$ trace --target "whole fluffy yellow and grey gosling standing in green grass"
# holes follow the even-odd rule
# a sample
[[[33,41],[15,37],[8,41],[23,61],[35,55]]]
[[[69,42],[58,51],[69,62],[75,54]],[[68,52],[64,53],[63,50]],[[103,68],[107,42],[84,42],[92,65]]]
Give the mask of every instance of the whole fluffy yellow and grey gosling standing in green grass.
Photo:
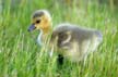
[[[32,15],[32,26],[28,31],[40,29],[38,43],[43,46],[51,34],[50,46],[58,49],[62,57],[79,62],[95,51],[102,42],[102,34],[95,29],[81,28],[72,24],[59,24],[51,29],[51,17],[46,10],[37,10]],[[59,55],[60,56],[60,55]]]

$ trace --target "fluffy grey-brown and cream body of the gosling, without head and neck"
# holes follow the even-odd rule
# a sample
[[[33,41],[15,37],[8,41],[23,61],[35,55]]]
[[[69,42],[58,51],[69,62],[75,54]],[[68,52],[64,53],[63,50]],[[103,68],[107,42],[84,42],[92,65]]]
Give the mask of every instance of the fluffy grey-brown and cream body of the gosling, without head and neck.
[[[72,24],[60,24],[54,29],[51,40],[57,41],[55,47],[58,48],[60,54],[72,62],[79,62],[95,51],[102,38],[102,33],[98,30]]]

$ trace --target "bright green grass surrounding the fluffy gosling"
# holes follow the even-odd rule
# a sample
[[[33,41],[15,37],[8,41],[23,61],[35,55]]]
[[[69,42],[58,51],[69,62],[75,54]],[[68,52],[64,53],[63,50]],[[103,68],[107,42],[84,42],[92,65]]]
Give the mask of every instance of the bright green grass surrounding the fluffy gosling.
[[[66,61],[57,67],[57,55],[48,56],[48,49],[35,43],[38,31],[28,33],[31,14],[47,9],[54,26],[70,22],[102,30],[103,43],[83,63]],[[88,3],[87,8],[64,5],[48,0],[21,0],[20,4],[4,3],[0,14],[0,77],[117,77],[118,76],[118,14],[107,5]]]

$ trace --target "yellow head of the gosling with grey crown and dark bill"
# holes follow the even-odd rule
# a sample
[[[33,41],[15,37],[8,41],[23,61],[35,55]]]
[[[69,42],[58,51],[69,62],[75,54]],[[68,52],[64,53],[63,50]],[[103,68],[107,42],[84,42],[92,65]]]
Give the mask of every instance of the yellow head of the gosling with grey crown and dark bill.
[[[33,13],[28,31],[34,29],[43,30],[44,34],[48,33],[51,27],[51,17],[47,10],[37,10]]]

